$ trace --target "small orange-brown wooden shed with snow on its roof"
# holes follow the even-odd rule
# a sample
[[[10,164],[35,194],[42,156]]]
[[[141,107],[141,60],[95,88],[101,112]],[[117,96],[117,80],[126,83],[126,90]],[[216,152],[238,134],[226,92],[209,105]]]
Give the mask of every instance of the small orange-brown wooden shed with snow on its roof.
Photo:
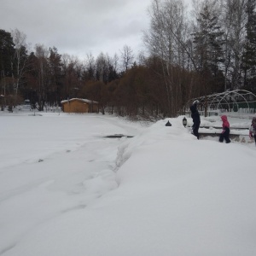
[[[62,111],[65,113],[97,113],[98,102],[73,98],[70,100],[62,101]]]

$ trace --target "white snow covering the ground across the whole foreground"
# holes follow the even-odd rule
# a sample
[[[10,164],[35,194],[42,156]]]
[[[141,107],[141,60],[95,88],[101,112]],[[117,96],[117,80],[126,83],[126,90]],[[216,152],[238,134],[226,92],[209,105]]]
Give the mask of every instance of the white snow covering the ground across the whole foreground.
[[[148,125],[94,113],[0,119],[0,255],[256,255],[249,139],[197,140],[183,116]],[[106,137],[114,134],[134,137]]]

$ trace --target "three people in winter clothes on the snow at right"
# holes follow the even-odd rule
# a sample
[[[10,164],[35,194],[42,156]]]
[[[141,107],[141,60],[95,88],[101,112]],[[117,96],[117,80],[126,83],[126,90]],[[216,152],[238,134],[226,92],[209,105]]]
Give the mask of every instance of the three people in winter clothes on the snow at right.
[[[196,100],[189,108],[191,111],[191,118],[193,119],[192,133],[195,135],[195,137],[197,137],[197,139],[199,139],[198,130],[201,124],[200,113],[197,110],[198,103],[199,101]],[[226,143],[230,143],[230,123],[226,115],[222,115],[220,118],[222,119],[222,132],[218,138],[218,141],[223,143],[225,140]],[[254,117],[252,120],[252,125],[249,130],[249,137],[251,139],[254,138],[254,142],[256,144],[256,117]]]

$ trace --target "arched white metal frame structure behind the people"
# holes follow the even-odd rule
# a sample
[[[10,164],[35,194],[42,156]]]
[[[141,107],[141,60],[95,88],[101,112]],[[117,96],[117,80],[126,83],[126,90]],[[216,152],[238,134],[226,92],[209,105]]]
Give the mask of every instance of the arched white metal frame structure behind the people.
[[[200,102],[201,108],[207,111],[238,111],[240,108],[253,109],[256,112],[256,95],[248,90],[228,90],[222,93],[215,93],[209,96],[196,98]],[[194,102],[192,99],[189,103]],[[201,109],[202,110],[202,109]]]

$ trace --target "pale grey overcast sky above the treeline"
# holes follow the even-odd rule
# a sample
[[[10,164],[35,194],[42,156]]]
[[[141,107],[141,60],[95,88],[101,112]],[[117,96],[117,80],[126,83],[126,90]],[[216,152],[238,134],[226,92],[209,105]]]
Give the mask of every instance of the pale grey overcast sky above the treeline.
[[[26,43],[55,46],[84,59],[119,55],[124,45],[143,49],[152,0],[0,0],[0,29],[17,28]]]

